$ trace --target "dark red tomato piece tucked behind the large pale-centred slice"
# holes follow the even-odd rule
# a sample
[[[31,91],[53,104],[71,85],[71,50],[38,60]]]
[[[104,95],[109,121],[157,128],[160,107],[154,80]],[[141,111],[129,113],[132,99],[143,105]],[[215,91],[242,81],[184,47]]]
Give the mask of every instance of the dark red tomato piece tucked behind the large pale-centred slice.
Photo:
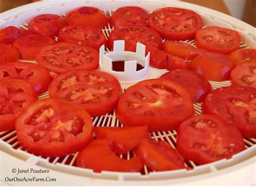
[[[183,86],[193,103],[203,102],[209,92],[211,92],[211,84],[202,75],[187,69],[176,69],[169,71],[160,76],[166,80],[176,82]]]

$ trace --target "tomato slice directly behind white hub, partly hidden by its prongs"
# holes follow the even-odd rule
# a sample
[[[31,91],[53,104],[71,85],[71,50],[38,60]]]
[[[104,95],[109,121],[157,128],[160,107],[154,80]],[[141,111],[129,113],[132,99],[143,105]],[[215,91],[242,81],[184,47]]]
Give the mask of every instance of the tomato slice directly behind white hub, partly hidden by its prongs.
[[[160,35],[152,28],[145,26],[123,26],[115,28],[107,40],[107,44],[110,49],[113,50],[114,40],[125,41],[125,51],[136,52],[137,42],[144,45],[152,45],[158,49],[161,49]]]

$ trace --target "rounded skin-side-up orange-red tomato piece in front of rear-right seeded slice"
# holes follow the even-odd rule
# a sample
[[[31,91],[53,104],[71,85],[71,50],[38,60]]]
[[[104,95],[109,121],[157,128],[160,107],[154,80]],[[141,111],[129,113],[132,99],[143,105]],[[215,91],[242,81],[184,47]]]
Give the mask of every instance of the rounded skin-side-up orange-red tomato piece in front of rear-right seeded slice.
[[[234,68],[233,62],[227,55],[205,52],[197,55],[190,63],[190,69],[203,75],[209,81],[230,80]]]

